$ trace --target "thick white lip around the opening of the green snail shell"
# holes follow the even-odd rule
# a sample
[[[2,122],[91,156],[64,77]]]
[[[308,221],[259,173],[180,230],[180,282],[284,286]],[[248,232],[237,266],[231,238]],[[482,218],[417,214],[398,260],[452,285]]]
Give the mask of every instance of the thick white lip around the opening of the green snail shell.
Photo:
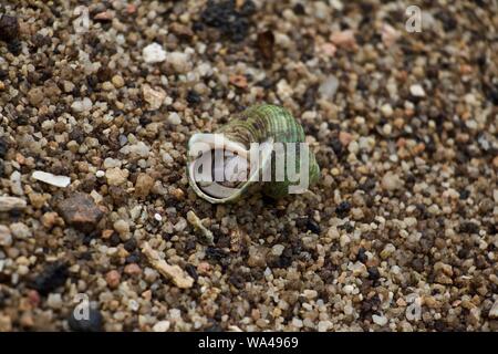
[[[191,153],[190,148],[195,145],[196,152]],[[204,146],[203,146],[204,145]],[[238,196],[242,194],[247,187],[260,178],[260,170],[263,170],[268,167],[268,164],[271,163],[271,153],[273,150],[273,139],[262,143],[263,145],[261,153],[261,166],[256,171],[251,170],[251,175],[248,180],[245,181],[239,188],[230,188],[218,184],[217,181],[211,181],[207,186],[199,187],[199,183],[195,178],[195,167],[196,162],[198,159],[198,155],[200,153],[205,153],[208,150],[212,150],[216,148],[225,149],[229,152],[237,153],[238,156],[245,157],[249,159],[250,152],[246,149],[246,147],[237,142],[230,140],[225,137],[224,134],[204,134],[198,133],[194,134],[188,142],[188,164],[187,164],[187,173],[188,180],[195,192],[201,197],[203,199],[211,202],[211,204],[224,204],[231,200],[235,200]],[[197,153],[197,154],[195,154]],[[197,157],[195,156],[197,155]]]

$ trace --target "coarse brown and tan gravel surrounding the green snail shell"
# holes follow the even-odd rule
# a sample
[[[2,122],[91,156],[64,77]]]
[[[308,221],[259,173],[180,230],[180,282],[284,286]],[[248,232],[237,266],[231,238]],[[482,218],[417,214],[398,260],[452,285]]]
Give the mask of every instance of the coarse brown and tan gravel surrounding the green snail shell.
[[[498,331],[495,2],[80,4],[0,6],[0,331]],[[319,184],[197,198],[261,102]]]

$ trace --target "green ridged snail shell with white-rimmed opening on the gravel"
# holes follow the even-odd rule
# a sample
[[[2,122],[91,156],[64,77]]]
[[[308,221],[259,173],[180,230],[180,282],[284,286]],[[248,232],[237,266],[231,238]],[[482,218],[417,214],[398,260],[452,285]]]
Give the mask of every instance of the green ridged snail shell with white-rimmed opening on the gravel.
[[[251,158],[253,156],[251,155],[252,143],[259,144],[257,165],[251,165],[258,160],[258,158]],[[302,144],[297,144],[298,147],[295,147],[295,144],[288,143]],[[278,146],[283,149],[277,150]],[[304,153],[300,147],[305,147]],[[205,156],[208,156],[208,159],[211,156],[221,156],[224,157],[222,164],[206,160]],[[207,171],[210,179],[199,178],[203,174],[203,167],[200,167],[203,164],[210,168]],[[256,189],[260,189],[272,198],[299,192],[291,191],[292,186],[299,184],[295,178],[292,178],[291,181],[287,174],[283,178],[274,178],[278,164],[284,164],[287,171],[291,168],[297,174],[301,173],[302,166],[308,167],[308,177],[305,177],[308,185],[314,184],[320,175],[314,155],[304,144],[304,132],[301,125],[284,108],[270,104],[249,107],[215,134],[194,134],[188,142],[189,184],[199,197],[211,204],[236,201]],[[293,164],[293,166],[288,166],[288,164]],[[234,166],[237,166],[237,170]],[[253,168],[255,166],[256,168]],[[307,171],[303,170],[303,173]],[[225,176],[224,183],[212,178],[217,174]],[[271,177],[261,178],[262,176]],[[300,174],[299,176],[299,178],[304,178],[302,177],[304,175]]]

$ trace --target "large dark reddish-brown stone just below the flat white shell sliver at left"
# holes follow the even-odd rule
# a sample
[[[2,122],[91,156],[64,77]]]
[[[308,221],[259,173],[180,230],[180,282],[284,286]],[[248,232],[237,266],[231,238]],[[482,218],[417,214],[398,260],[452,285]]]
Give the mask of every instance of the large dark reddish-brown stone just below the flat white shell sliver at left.
[[[94,230],[104,216],[92,197],[81,192],[59,202],[58,209],[65,222],[85,232]]]

